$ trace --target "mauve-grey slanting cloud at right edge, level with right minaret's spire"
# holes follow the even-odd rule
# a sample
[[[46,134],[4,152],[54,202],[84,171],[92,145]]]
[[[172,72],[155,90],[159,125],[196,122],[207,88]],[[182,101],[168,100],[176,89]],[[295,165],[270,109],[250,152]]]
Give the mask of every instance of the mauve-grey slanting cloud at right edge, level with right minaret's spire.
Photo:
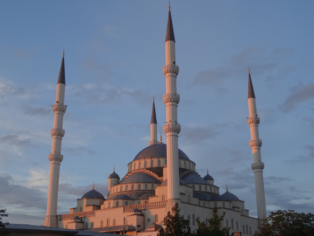
[[[284,112],[288,112],[290,110],[293,110],[300,103],[313,98],[314,98],[314,82],[293,88],[292,93],[286,98],[286,100],[280,106],[280,108]]]

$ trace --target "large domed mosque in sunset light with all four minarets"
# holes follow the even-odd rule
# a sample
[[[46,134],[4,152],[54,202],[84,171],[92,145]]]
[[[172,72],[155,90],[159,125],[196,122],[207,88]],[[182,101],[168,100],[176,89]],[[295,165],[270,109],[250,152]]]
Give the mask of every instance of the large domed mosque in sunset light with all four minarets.
[[[50,181],[48,190],[47,216],[44,226],[88,230],[127,235],[154,236],[163,227],[163,219],[175,203],[181,207],[181,215],[190,222],[192,232],[198,226],[196,220],[205,222],[218,209],[218,214],[225,212],[222,227],[230,227],[230,233],[240,232],[242,235],[253,235],[258,225],[266,216],[265,193],[263,183],[264,163],[261,161],[262,140],[259,139],[255,94],[252,80],[248,77],[248,105],[253,163],[251,164],[255,178],[257,215],[250,217],[244,201],[230,193],[228,188],[221,191],[215,185],[214,178],[209,175],[201,177],[196,172],[196,163],[178,148],[178,137],[181,126],[177,122],[177,108],[180,95],[176,91],[176,78],[179,67],[176,65],[175,36],[173,31],[170,4],[165,39],[165,59],[163,73],[166,80],[166,93],[163,101],[166,108],[166,123],[163,126],[166,142],[163,143],[161,133],[157,136],[157,119],[154,106],[150,121],[149,146],[141,150],[127,164],[127,173],[120,178],[115,170],[108,177],[108,193],[98,192],[93,184],[92,189],[77,199],[76,207],[70,213],[57,215],[57,197],[59,185],[61,142],[64,136],[63,115],[65,69],[64,53],[57,82],[56,104],[54,112],[54,128],[51,129],[52,149],[49,154]],[[224,193],[222,193],[224,192]],[[222,194],[221,194],[222,193]],[[105,197],[105,196],[106,197]]]

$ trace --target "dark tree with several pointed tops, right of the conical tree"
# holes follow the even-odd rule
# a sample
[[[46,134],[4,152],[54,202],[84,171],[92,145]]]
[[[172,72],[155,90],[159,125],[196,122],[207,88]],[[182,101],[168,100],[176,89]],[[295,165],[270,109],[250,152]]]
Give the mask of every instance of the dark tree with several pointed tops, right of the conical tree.
[[[198,229],[196,230],[197,236],[229,236],[230,227],[221,228],[221,222],[224,220],[226,212],[224,211],[222,216],[218,216],[218,210],[215,207],[213,209],[213,217],[208,220],[208,226],[205,222],[196,220]],[[231,234],[234,235],[234,232]]]

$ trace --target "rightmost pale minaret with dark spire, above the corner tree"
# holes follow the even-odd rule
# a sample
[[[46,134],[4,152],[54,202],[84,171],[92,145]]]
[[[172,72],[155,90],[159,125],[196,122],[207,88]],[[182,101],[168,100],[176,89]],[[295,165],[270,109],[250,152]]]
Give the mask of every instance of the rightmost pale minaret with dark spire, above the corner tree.
[[[262,140],[259,139],[258,134],[259,117],[257,116],[256,111],[255,94],[250,75],[250,68],[248,68],[248,70],[249,70],[249,87],[247,100],[249,104],[249,117],[247,118],[247,123],[250,125],[251,129],[251,140],[249,141],[253,154],[253,163],[251,164],[251,168],[254,172],[255,179],[257,217],[259,219],[259,222],[262,223],[263,218],[266,217],[266,203],[263,179],[264,163],[262,162],[261,157]]]

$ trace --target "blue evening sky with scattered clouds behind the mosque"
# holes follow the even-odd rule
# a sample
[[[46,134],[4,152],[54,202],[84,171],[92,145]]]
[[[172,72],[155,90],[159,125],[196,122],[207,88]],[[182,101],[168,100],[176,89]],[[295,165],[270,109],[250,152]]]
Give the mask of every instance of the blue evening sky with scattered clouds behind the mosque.
[[[267,212],[314,213],[313,1],[171,0],[179,148],[220,193],[257,216],[247,86],[260,117]],[[62,51],[66,94],[57,214],[150,140],[152,98],[165,123],[168,1],[2,1],[0,209],[5,221],[46,216],[50,129]],[[165,134],[162,132],[163,142]]]

